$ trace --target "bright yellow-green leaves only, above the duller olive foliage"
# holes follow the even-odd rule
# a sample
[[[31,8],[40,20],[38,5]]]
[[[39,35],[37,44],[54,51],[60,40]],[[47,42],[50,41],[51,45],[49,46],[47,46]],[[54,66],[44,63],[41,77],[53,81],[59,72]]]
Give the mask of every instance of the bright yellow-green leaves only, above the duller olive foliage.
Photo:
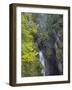
[[[22,15],[22,60],[35,60],[33,34],[37,32],[31,14]]]

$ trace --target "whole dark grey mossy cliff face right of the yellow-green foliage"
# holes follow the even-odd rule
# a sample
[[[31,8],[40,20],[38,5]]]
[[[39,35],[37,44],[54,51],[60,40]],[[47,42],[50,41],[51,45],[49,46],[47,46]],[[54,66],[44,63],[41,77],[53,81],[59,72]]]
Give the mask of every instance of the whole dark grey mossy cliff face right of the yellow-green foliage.
[[[43,75],[63,74],[62,19],[62,15],[39,14],[35,17],[35,23],[38,25],[35,41],[43,54]]]

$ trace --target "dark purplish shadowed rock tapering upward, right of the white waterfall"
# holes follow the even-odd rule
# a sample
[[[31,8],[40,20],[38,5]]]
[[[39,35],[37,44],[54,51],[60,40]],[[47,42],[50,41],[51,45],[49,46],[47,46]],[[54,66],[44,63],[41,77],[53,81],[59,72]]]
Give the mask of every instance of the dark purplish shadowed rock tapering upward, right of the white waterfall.
[[[59,69],[58,69],[58,63],[56,58],[56,52],[55,49],[53,49],[53,53],[50,57],[50,60],[48,60],[48,67],[49,67],[49,75],[59,75]],[[48,75],[48,73],[46,72]]]

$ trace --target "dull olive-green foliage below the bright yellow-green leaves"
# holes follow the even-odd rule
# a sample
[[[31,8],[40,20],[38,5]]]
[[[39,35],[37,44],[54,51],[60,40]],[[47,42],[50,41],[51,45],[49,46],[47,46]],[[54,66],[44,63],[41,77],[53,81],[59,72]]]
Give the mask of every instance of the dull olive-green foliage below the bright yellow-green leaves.
[[[22,77],[27,76],[41,76],[42,66],[39,60],[22,61]]]

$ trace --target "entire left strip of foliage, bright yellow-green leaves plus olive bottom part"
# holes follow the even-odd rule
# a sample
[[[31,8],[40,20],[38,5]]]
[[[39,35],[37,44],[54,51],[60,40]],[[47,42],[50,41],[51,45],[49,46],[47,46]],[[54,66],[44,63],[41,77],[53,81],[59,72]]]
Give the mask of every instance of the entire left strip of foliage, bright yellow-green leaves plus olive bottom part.
[[[41,74],[41,65],[38,57],[37,45],[34,43],[34,34],[37,32],[32,14],[22,14],[21,17],[21,59],[22,76],[35,76]]]

